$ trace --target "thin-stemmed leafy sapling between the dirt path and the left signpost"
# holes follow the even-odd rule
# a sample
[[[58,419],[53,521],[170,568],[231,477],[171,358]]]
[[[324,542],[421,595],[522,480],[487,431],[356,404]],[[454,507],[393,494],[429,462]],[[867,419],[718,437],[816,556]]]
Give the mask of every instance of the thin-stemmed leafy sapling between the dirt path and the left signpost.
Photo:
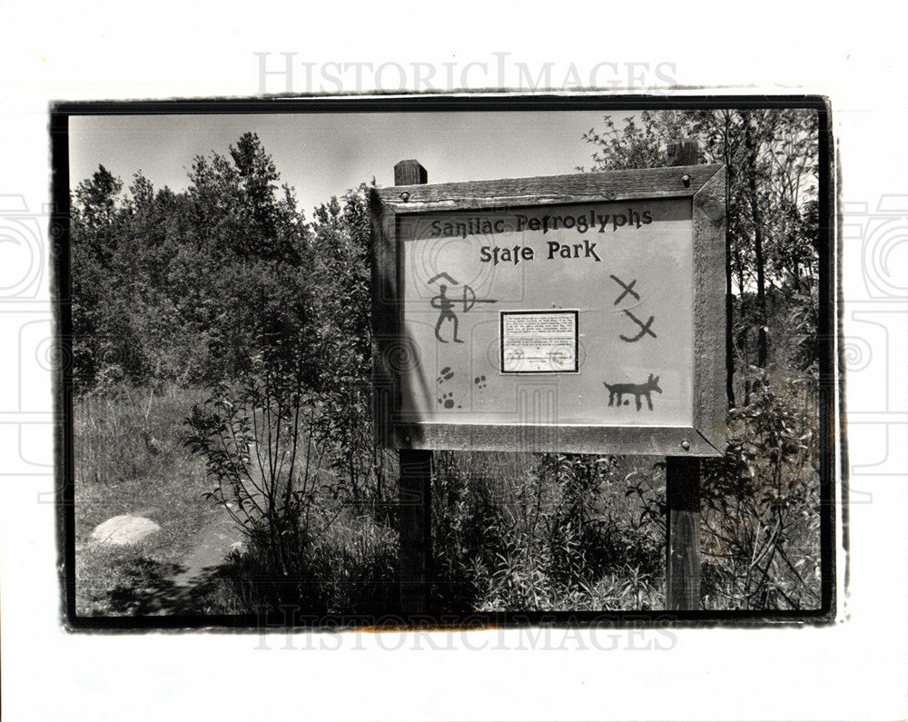
[[[201,454],[222,504],[287,578],[306,566],[317,530],[313,506],[323,453],[315,433],[321,408],[311,391],[311,298],[288,266],[266,264],[246,291],[259,295],[256,351],[235,382],[218,381],[187,420],[187,445]],[[313,516],[314,514],[314,516]],[[291,593],[299,594],[299,589]]]

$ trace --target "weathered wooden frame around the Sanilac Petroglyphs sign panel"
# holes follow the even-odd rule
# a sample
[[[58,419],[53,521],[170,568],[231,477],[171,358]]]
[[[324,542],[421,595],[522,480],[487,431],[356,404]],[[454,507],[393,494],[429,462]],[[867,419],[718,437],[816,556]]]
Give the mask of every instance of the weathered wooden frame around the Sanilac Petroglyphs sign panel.
[[[516,211],[568,203],[690,199],[694,249],[694,361],[689,426],[558,425],[401,421],[400,381],[418,363],[403,328],[400,220],[420,213]],[[372,329],[374,419],[380,445],[404,450],[562,451],[719,456],[725,447],[725,166],[686,165],[608,173],[373,189]]]

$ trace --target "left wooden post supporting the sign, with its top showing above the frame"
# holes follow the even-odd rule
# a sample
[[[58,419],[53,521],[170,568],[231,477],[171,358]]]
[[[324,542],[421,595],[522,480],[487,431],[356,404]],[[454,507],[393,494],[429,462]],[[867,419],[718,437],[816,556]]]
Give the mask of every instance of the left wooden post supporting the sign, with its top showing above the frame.
[[[395,185],[421,185],[429,174],[418,161],[394,166]],[[400,449],[399,533],[400,611],[404,615],[429,610],[432,566],[432,452]]]

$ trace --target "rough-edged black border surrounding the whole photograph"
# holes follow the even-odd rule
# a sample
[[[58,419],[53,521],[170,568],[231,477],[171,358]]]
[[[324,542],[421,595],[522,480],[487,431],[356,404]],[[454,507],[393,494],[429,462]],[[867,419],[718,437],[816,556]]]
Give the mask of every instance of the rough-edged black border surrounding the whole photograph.
[[[262,609],[261,613],[242,616],[173,615],[159,617],[83,617],[75,609],[75,541],[74,541],[74,429],[72,316],[70,297],[70,179],[69,118],[82,115],[144,114],[312,114],[312,113],[393,113],[393,112],[458,112],[458,111],[601,111],[622,110],[696,110],[734,108],[741,110],[805,109],[818,114],[818,203],[819,203],[819,442],[821,499],[821,604],[814,610],[787,611],[615,611],[615,612],[539,612],[539,613],[473,613],[465,617],[382,618],[330,616],[288,617],[286,609]],[[59,503],[58,549],[62,588],[61,613],[64,626],[71,630],[195,629],[218,631],[232,629],[249,633],[268,630],[310,629],[338,631],[364,628],[374,630],[407,628],[510,628],[510,627],[702,627],[716,625],[766,625],[774,623],[831,624],[835,619],[836,579],[836,488],[847,498],[844,463],[837,479],[837,447],[846,453],[844,436],[844,369],[841,333],[841,307],[837,306],[840,289],[841,253],[836,252],[839,239],[835,233],[836,206],[834,138],[832,112],[827,99],[818,95],[755,94],[699,96],[642,96],[607,94],[458,94],[458,95],[373,95],[358,97],[305,96],[300,98],[266,98],[261,100],[185,100],[185,101],[118,101],[60,102],[50,109],[50,146],[52,158],[52,193],[54,199],[50,223],[53,262],[53,304],[55,312],[56,351],[64,360],[54,375],[54,425],[56,439],[56,476]],[[843,509],[844,513],[844,509]],[[847,539],[842,535],[847,551]]]

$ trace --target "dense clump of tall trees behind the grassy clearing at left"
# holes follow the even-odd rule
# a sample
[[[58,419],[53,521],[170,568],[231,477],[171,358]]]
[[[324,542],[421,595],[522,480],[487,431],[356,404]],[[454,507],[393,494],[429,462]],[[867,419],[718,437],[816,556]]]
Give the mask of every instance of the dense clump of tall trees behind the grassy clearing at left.
[[[77,388],[212,381],[250,362],[271,280],[300,291],[308,230],[255,134],[200,156],[183,193],[101,166],[73,197]],[[303,295],[301,293],[301,295]]]

